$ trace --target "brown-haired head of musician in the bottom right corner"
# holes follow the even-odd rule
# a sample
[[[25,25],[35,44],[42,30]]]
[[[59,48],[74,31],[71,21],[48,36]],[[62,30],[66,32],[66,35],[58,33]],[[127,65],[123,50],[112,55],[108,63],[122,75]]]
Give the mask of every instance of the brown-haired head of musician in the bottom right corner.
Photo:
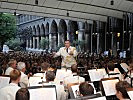
[[[126,81],[116,83],[116,96],[119,100],[130,100],[126,88],[130,88],[130,84]]]

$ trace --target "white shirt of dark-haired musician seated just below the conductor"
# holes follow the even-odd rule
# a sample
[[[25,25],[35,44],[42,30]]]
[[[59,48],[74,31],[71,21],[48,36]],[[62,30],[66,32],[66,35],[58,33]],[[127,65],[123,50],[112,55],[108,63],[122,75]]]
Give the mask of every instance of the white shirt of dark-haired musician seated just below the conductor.
[[[85,82],[85,78],[80,77],[75,73],[73,73],[72,75],[70,75],[64,79],[65,86],[67,86],[70,83],[81,83],[81,82]]]

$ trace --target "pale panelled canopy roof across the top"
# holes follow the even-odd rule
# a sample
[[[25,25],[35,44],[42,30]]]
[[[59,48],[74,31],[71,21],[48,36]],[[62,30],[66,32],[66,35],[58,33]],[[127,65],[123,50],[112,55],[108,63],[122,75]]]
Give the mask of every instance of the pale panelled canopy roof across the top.
[[[122,18],[133,13],[133,0],[0,0],[0,12],[30,14],[77,21],[107,21],[107,16]],[[69,13],[67,15],[67,13]]]

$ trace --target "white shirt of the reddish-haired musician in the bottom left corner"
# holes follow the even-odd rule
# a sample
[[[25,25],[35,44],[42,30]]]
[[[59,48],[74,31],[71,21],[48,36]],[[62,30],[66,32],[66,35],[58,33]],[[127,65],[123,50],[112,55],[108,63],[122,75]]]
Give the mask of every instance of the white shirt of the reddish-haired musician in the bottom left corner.
[[[8,86],[0,89],[0,100],[15,100],[16,92],[20,87],[15,83],[10,83]]]

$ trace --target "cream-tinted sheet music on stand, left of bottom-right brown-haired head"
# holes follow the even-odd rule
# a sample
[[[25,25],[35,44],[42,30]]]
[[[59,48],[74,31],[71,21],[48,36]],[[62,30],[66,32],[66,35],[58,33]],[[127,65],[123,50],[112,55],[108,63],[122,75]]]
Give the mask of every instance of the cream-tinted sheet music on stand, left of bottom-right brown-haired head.
[[[118,79],[102,81],[104,92],[106,96],[116,94],[115,84],[119,82]]]

